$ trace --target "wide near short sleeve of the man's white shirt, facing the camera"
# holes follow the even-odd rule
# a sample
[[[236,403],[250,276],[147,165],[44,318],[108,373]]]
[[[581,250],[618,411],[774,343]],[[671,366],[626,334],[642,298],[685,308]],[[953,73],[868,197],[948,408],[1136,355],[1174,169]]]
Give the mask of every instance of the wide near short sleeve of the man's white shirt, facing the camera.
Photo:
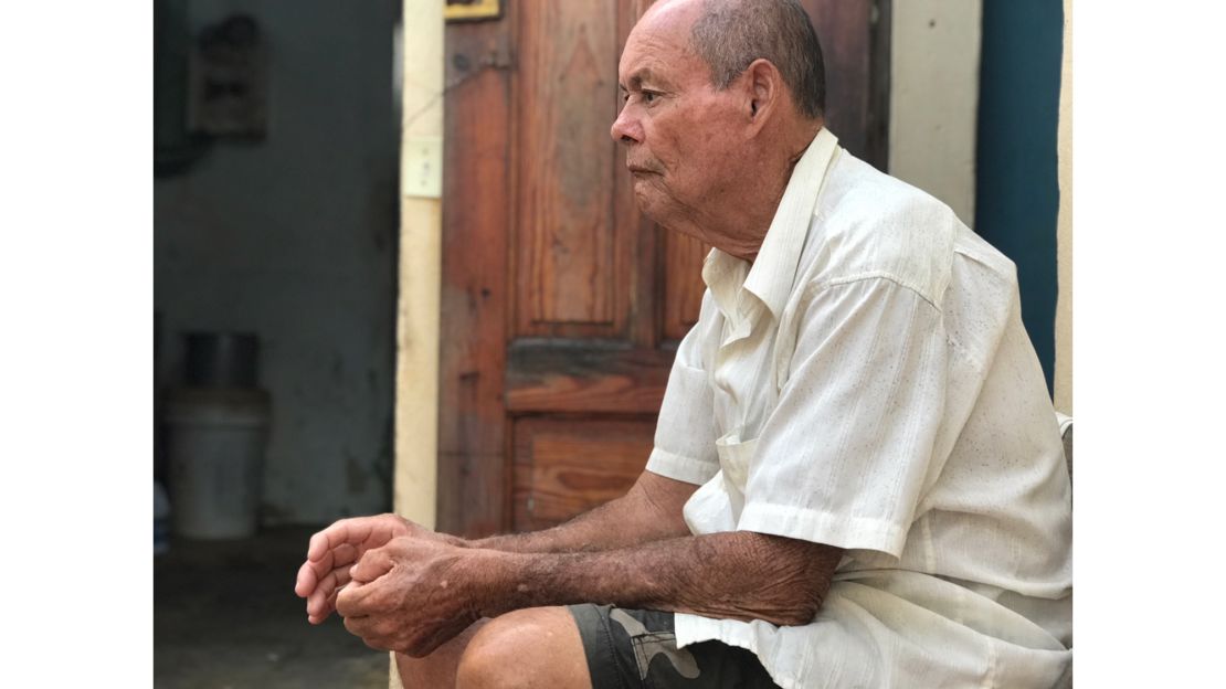
[[[901,555],[944,412],[940,311],[885,277],[818,288],[745,482],[742,531]]]

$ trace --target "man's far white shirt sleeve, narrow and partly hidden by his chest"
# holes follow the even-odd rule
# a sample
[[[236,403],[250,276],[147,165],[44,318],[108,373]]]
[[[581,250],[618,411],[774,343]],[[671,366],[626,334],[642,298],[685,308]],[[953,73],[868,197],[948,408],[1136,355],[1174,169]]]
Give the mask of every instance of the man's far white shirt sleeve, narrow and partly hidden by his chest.
[[[720,471],[715,450],[715,392],[701,356],[702,332],[711,310],[702,299],[699,322],[682,340],[668,374],[664,401],[656,422],[655,446],[647,471],[701,485]]]

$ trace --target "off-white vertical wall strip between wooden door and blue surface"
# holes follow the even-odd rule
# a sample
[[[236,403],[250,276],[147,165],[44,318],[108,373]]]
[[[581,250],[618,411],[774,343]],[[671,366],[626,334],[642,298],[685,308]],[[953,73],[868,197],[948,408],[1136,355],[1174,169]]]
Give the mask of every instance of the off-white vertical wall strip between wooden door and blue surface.
[[[890,7],[889,172],[971,226],[982,0],[899,0]]]

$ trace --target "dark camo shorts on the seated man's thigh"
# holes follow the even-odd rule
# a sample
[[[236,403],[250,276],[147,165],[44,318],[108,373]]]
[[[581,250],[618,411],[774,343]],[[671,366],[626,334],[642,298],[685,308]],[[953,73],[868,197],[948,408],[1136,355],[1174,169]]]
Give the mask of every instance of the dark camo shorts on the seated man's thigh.
[[[673,613],[568,606],[579,625],[592,689],[774,688],[758,656],[720,641],[677,647]]]

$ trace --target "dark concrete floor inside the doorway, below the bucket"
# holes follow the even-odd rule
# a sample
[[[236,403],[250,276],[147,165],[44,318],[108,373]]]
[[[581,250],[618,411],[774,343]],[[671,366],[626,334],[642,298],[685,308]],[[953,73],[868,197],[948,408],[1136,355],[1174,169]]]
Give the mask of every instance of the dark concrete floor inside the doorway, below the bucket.
[[[153,560],[153,685],[386,689],[387,653],[349,635],[335,615],[306,623],[293,586],[314,531],[172,539]]]

